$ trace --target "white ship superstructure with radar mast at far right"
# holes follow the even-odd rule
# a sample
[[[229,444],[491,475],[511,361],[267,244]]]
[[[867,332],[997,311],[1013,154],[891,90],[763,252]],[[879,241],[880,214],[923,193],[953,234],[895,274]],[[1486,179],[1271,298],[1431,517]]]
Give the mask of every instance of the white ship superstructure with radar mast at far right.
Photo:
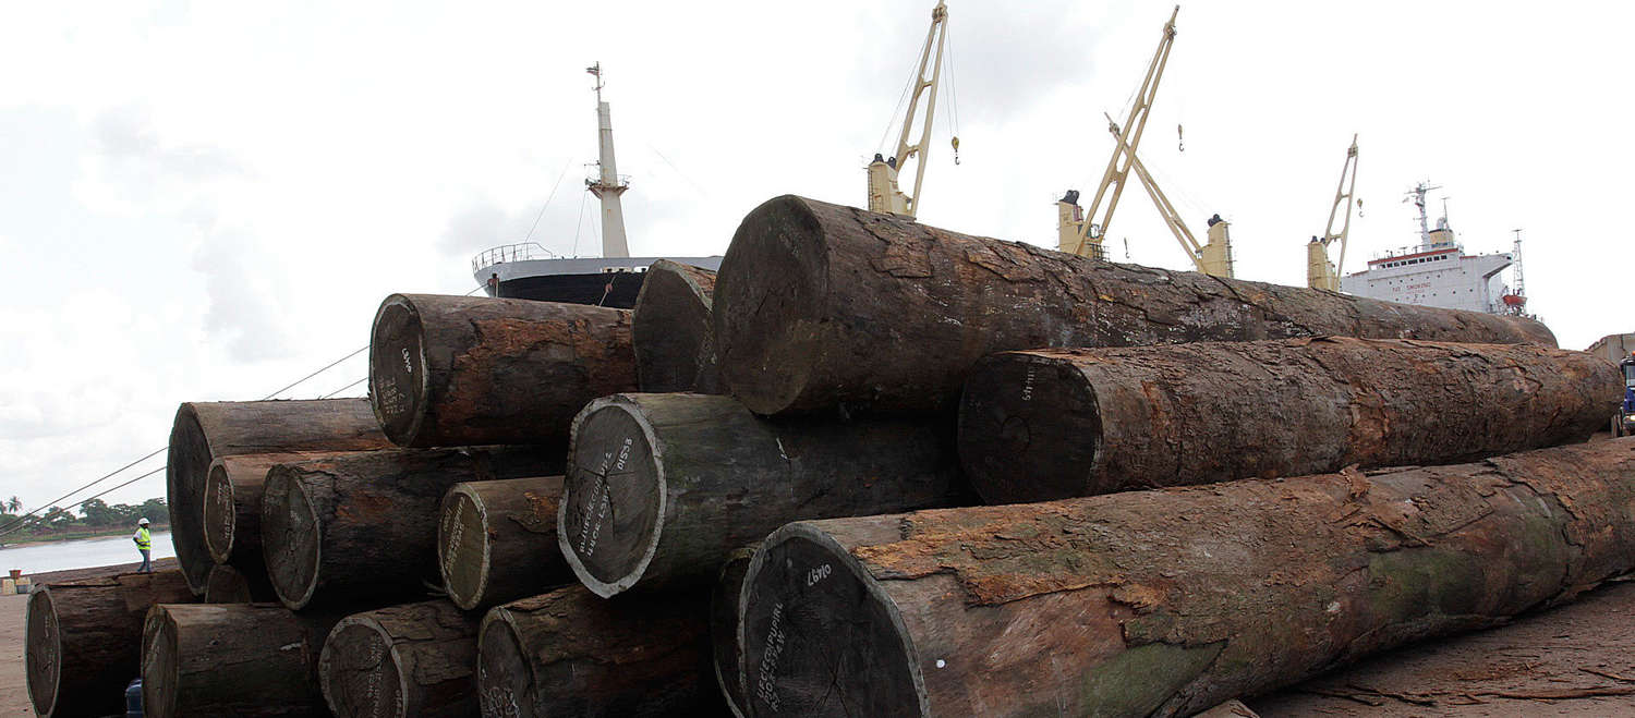
[[[1419,244],[1368,262],[1368,268],[1341,278],[1341,291],[1372,299],[1467,309],[1488,314],[1521,314],[1525,298],[1511,291],[1503,271],[1516,263],[1514,254],[1465,254],[1454,239],[1447,218],[1436,229],[1426,219],[1421,183],[1409,198],[1419,208]]]

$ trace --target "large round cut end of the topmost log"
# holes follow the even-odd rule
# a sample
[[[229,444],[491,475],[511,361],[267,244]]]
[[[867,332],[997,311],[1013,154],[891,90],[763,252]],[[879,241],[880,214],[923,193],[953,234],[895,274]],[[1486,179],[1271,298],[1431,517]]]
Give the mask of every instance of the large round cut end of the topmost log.
[[[744,218],[721,260],[714,296],[721,379],[755,414],[803,409],[822,340],[818,312],[829,293],[826,250],[811,208],[796,196],[780,196]]]

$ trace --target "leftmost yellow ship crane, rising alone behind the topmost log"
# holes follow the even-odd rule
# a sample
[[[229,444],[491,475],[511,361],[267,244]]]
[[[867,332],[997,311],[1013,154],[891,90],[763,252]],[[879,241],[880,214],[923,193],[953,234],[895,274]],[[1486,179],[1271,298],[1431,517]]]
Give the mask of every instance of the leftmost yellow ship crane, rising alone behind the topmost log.
[[[937,111],[937,90],[942,85],[942,54],[948,39],[948,7],[937,0],[930,11],[930,31],[925,33],[925,46],[921,47],[919,67],[909,80],[909,110],[903,116],[903,128],[898,131],[896,152],[891,157],[875,154],[868,164],[868,209],[875,213],[891,213],[914,219],[919,213],[921,186],[925,183],[925,142],[930,141],[932,118]],[[927,77],[927,72],[930,75]],[[919,141],[909,144],[914,131],[914,119],[919,113],[921,98],[925,98],[925,119]],[[958,128],[955,128],[958,134]],[[898,185],[898,173],[909,160],[914,164],[914,195],[904,195]],[[953,162],[960,164],[960,137],[953,137]]]

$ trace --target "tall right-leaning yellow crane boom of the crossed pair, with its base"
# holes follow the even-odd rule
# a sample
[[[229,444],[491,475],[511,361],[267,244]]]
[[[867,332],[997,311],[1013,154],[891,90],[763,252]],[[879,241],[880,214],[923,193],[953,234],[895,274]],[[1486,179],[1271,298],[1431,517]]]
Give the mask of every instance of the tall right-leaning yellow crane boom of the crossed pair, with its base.
[[[1158,51],[1153,52],[1153,59],[1146,65],[1146,79],[1141,80],[1141,90],[1136,93],[1135,103],[1130,106],[1130,116],[1123,123],[1130,129],[1128,146],[1120,142],[1113,149],[1112,159],[1107,160],[1107,170],[1102,173],[1102,183],[1095,190],[1095,198],[1091,200],[1089,213],[1081,214],[1076,204],[1076,191],[1069,193],[1071,201],[1063,200],[1058,203],[1058,249],[1063,252],[1102,258],[1102,237],[1107,236],[1113,209],[1118,208],[1118,196],[1123,195],[1125,183],[1130,178],[1130,167],[1135,164],[1135,149],[1141,146],[1141,134],[1146,132],[1146,119],[1151,114],[1153,100],[1158,98],[1158,82],[1164,77],[1169,49],[1176,44],[1177,15],[1180,15],[1180,5],[1176,5],[1176,10],[1169,13],[1169,21],[1164,23],[1164,34],[1158,41]],[[1118,124],[1112,123],[1110,118],[1109,131],[1122,136]],[[1112,190],[1112,195],[1109,195],[1109,190]],[[1107,200],[1105,209],[1102,208],[1104,198]]]

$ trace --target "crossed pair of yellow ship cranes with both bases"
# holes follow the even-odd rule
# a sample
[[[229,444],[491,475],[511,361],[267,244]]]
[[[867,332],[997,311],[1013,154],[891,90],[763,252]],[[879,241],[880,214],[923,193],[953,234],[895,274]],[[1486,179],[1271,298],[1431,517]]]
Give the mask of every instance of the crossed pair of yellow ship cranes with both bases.
[[[1141,134],[1146,132],[1146,121],[1151,116],[1153,100],[1158,96],[1158,83],[1164,77],[1164,65],[1169,64],[1169,51],[1176,44],[1177,15],[1180,15],[1180,5],[1176,5],[1176,10],[1169,15],[1169,21],[1164,23],[1158,51],[1153,52],[1153,59],[1146,65],[1146,79],[1141,80],[1141,90],[1136,92],[1135,103],[1130,106],[1130,116],[1123,126],[1120,128],[1112,116],[1107,116],[1107,131],[1112,132],[1115,147],[1112,159],[1107,160],[1107,170],[1102,173],[1102,183],[1091,200],[1089,213],[1079,206],[1077,190],[1068,190],[1056,201],[1056,249],[1081,257],[1107,258],[1102,242],[1107,237],[1113,211],[1118,208],[1118,198],[1123,195],[1130,182],[1130,172],[1133,170],[1136,182],[1146,190],[1146,195],[1153,200],[1153,206],[1164,218],[1164,224],[1176,236],[1176,240],[1180,242],[1180,249],[1197,265],[1198,271],[1215,276],[1231,276],[1233,262],[1228,222],[1220,214],[1210,218],[1207,244],[1198,244],[1192,231],[1187,229],[1187,222],[1180,219],[1176,206],[1158,188],[1158,182],[1153,180],[1151,172],[1136,157],[1136,147],[1141,144]],[[1104,201],[1105,206],[1102,204]]]

